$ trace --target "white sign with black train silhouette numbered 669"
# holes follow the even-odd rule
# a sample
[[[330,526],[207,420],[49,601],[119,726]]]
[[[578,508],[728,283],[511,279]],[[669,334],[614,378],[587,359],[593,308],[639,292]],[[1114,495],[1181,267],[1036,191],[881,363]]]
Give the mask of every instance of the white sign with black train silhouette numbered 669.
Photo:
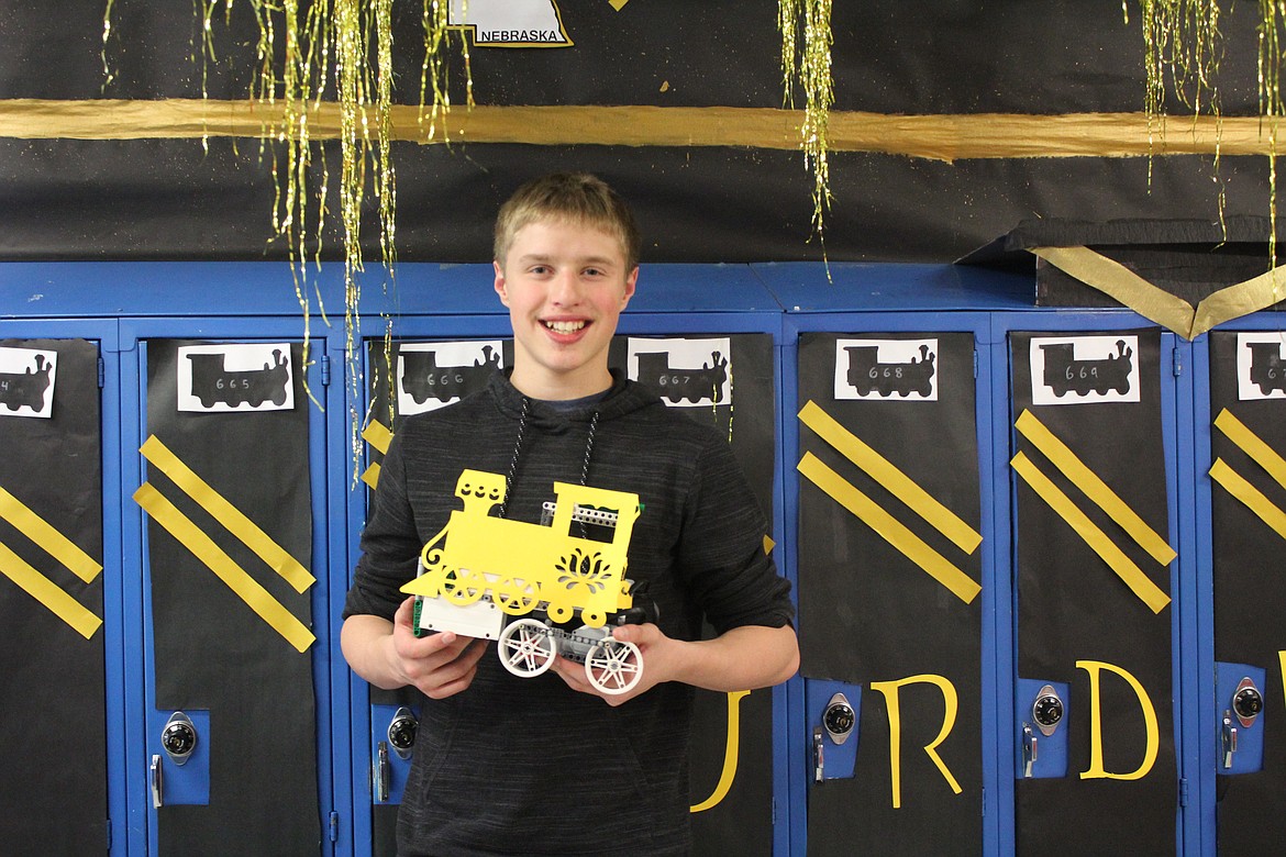
[[[1139,401],[1138,337],[1031,339],[1031,403]]]

